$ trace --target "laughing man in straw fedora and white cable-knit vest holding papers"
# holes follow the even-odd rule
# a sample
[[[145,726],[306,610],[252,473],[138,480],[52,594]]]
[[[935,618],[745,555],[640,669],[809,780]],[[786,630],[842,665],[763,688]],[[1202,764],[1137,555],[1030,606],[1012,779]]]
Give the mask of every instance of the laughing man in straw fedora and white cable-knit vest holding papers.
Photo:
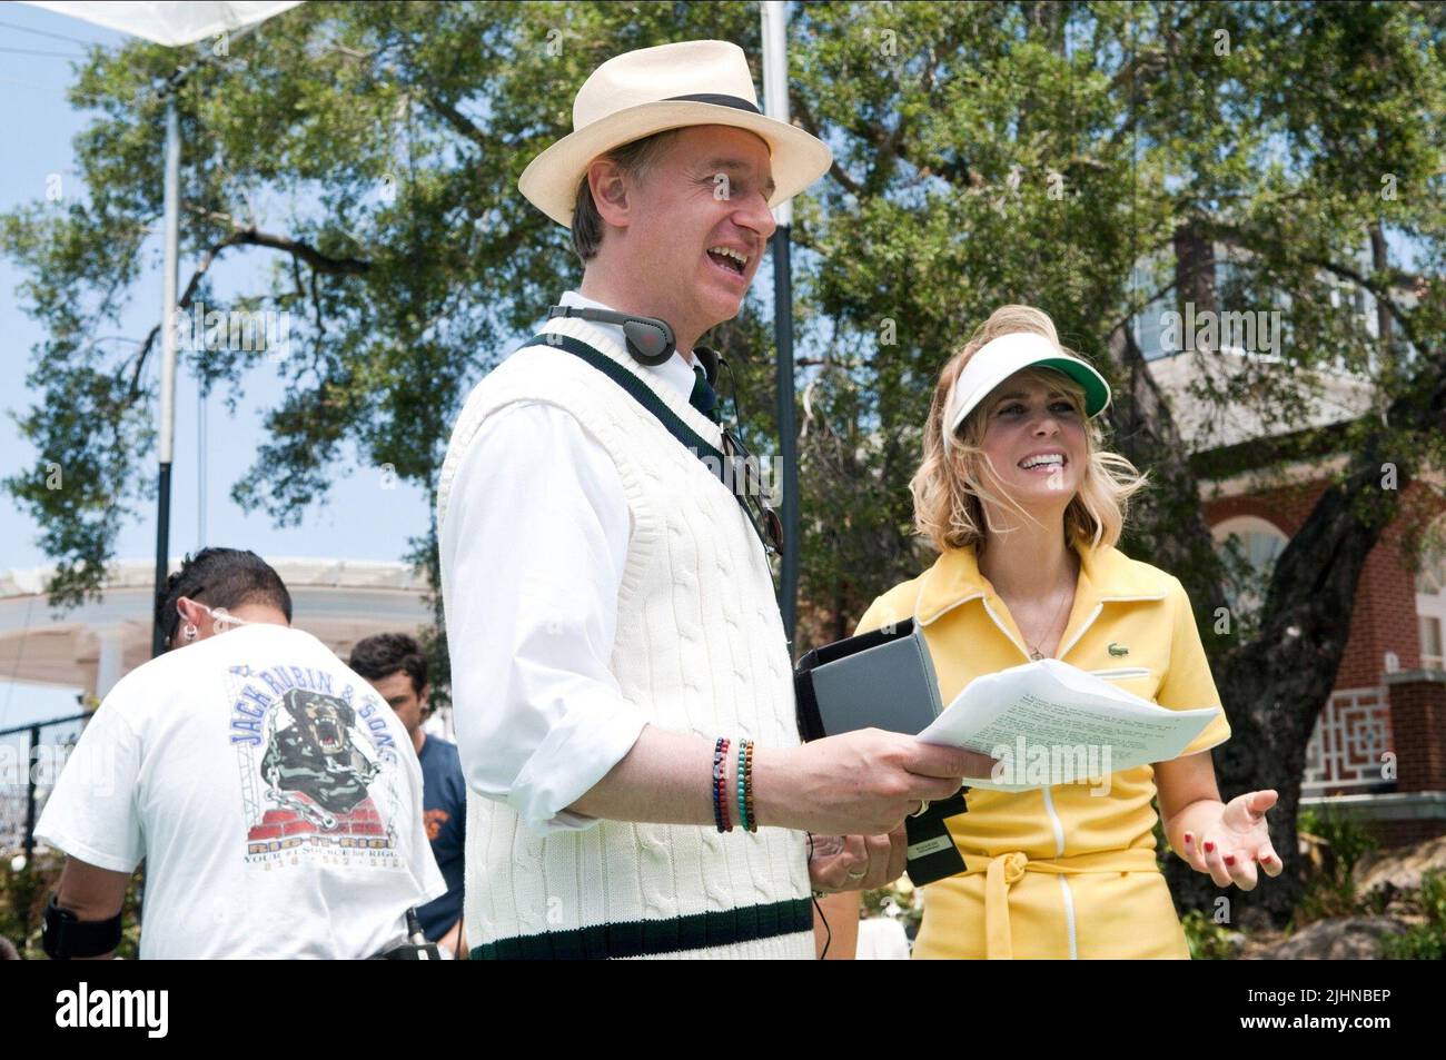
[[[519,188],[583,282],[473,390],[438,483],[471,956],[811,957],[810,891],[898,876],[904,817],[988,769],[879,730],[800,746],[769,512],[720,474],[697,343],[830,153],[720,40],[609,59],[573,127]]]

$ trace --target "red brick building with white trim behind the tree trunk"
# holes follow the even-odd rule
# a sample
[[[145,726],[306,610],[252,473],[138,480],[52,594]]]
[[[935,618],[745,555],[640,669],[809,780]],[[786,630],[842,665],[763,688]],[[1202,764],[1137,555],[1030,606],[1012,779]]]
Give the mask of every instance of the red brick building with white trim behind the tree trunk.
[[[1246,359],[1241,351],[1212,353],[1206,370],[1242,370]],[[1272,454],[1293,451],[1288,434],[1272,431],[1248,409],[1222,414],[1187,398],[1200,357],[1163,356],[1151,360],[1151,369],[1171,398],[1197,466],[1226,469],[1202,479],[1203,510],[1218,545],[1225,548],[1233,537],[1231,548],[1262,584],[1343,457],[1326,443],[1314,456],[1274,460]],[[1310,427],[1327,428],[1329,438],[1332,424],[1369,408],[1362,380],[1333,375],[1310,411]],[[1382,469],[1384,483],[1387,474]],[[1446,834],[1446,503],[1439,483],[1410,484],[1400,510],[1366,558],[1355,604],[1343,616],[1346,649],[1312,735],[1301,791],[1303,807],[1358,821],[1384,846]],[[1419,563],[1408,548],[1413,532],[1426,542]],[[1259,606],[1259,599],[1244,599],[1241,606]]]

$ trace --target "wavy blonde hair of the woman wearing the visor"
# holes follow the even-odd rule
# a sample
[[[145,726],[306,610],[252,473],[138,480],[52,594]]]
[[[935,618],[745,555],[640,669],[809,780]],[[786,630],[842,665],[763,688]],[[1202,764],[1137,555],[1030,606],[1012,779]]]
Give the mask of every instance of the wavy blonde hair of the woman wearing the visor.
[[[970,545],[982,550],[991,534],[1008,532],[991,522],[986,502],[1001,509],[1014,509],[1025,519],[1038,522],[1009,496],[982,448],[989,424],[983,402],[969,412],[949,445],[944,444],[944,412],[959,373],[985,343],[1015,331],[1044,335],[1060,347],[1060,337],[1048,314],[1030,305],[1004,305],[949,359],[934,385],[934,399],[924,427],[924,460],[910,482],[910,492],[914,495],[914,526],[940,552]],[[1084,479],[1064,510],[1066,541],[1090,548],[1113,545],[1125,526],[1129,497],[1145,486],[1147,476],[1122,456],[1103,448],[1098,422],[1084,419],[1084,390],[1079,383],[1050,369],[1030,369],[1025,375],[1063,393],[1073,402],[1084,424]]]

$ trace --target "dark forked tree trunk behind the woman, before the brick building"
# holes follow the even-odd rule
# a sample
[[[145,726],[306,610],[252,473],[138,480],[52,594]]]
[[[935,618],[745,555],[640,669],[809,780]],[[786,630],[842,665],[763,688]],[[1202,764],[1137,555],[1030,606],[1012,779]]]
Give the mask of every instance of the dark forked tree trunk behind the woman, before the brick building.
[[[1111,406],[1116,447],[1152,474],[1150,497],[1131,535],[1134,550],[1186,584],[1202,641],[1210,649],[1218,644],[1215,602],[1222,602],[1223,593],[1219,561],[1200,510],[1199,483],[1168,405],[1128,327],[1111,337],[1111,350],[1126,380],[1125,392]],[[1434,383],[1426,392],[1437,395],[1434,403],[1411,409],[1404,399],[1398,401],[1391,422],[1440,419],[1442,369],[1433,366],[1433,372]],[[1210,652],[1232,727],[1232,738],[1213,755],[1220,795],[1228,801],[1262,788],[1280,792],[1270,821],[1285,872],[1254,892],[1220,891],[1209,876],[1170,859],[1165,875],[1181,911],[1212,912],[1215,899],[1225,894],[1235,907],[1233,923],[1239,923],[1241,914],[1249,920],[1257,910],[1257,915],[1283,926],[1300,898],[1296,811],[1306,745],[1335,687],[1361,571],[1381,531],[1395,516],[1400,492],[1408,480],[1408,471],[1398,469],[1397,489],[1381,489],[1381,464],[1375,443],[1355,457],[1345,482],[1322,495],[1281,554],[1259,632],[1231,651]],[[1369,505],[1362,503],[1366,497]]]

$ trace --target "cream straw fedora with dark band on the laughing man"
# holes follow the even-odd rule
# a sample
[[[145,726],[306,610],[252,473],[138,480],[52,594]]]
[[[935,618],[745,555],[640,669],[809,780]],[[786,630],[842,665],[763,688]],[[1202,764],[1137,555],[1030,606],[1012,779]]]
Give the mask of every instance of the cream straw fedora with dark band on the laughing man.
[[[528,163],[518,188],[570,228],[577,187],[594,158],[684,126],[733,126],[761,136],[772,156],[769,207],[817,181],[833,161],[823,140],[759,111],[742,48],[684,40],[625,52],[594,69],[573,101],[573,132]]]

